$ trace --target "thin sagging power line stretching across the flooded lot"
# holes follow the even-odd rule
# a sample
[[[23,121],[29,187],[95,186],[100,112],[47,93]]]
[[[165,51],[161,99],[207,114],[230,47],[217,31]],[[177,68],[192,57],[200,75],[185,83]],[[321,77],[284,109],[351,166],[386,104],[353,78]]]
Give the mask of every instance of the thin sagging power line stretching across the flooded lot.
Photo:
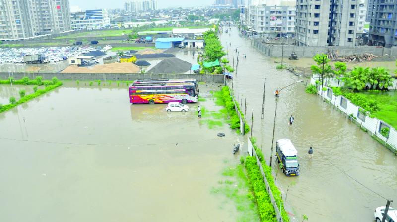
[[[42,141],[42,140],[25,140],[25,139],[15,139],[15,138],[1,138],[2,140],[11,141],[21,141],[21,142],[31,142],[31,143],[50,143],[50,144],[67,144],[67,145],[86,145],[86,146],[155,146],[155,145],[172,145],[172,144],[186,144],[186,143],[198,143],[206,142],[211,140],[221,140],[224,138],[231,137],[218,137],[206,140],[196,140],[196,141],[186,141],[186,142],[173,142],[173,143],[148,143],[148,144],[101,144],[101,143],[70,143],[70,142],[56,142],[56,141]]]

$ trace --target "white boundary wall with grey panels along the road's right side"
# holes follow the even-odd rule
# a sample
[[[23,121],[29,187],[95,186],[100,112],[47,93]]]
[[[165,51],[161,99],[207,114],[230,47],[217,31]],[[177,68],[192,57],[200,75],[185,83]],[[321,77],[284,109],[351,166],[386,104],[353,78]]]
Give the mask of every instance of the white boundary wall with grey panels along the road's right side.
[[[315,84],[315,79],[311,78],[310,83]],[[336,82],[337,83],[337,82]],[[317,93],[321,95],[321,90],[318,87]],[[340,111],[344,112],[346,116],[351,118],[352,121],[356,122],[358,125],[361,124],[361,119],[358,117],[363,117],[361,113],[359,113],[359,107],[355,104],[351,103],[350,100],[346,99],[343,96],[335,96],[333,95],[333,91],[331,88],[327,87],[327,91],[323,91],[323,96],[325,100],[329,101],[332,105],[338,108]],[[352,116],[352,117],[351,117]],[[385,142],[385,144],[390,145],[397,151],[397,131],[395,128],[388,125],[386,122],[383,122],[377,118],[371,118],[366,116],[364,121],[362,122],[362,127],[367,129],[371,135],[377,136],[379,139]],[[389,127],[389,137],[386,138],[380,133],[380,129],[382,127]]]

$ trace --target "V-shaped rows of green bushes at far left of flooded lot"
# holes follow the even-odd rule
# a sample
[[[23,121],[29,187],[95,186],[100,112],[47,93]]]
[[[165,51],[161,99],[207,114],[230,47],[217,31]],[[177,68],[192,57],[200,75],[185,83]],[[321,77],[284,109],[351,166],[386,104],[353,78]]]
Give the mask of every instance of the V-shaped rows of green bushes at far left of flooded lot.
[[[10,84],[12,82],[12,84],[22,84],[22,85],[45,85],[46,87],[44,89],[37,89],[34,90],[34,93],[32,94],[28,94],[26,95],[26,92],[23,92],[23,96],[21,96],[21,98],[16,101],[15,98],[13,98],[11,100],[10,98],[10,103],[9,104],[5,104],[5,105],[1,105],[0,106],[0,112],[4,112],[7,110],[10,110],[16,106],[18,106],[19,104],[23,104],[25,102],[28,102],[31,99],[34,99],[40,95],[43,95],[44,93],[47,93],[48,91],[51,91],[55,88],[57,88],[58,86],[62,86],[62,82],[60,82],[56,77],[54,77],[52,79],[52,81],[42,81],[42,77],[41,76],[37,76],[35,80],[30,80],[28,77],[24,77],[20,80],[13,80],[8,79],[8,80],[0,80],[0,84]],[[21,92],[20,92],[21,94]]]

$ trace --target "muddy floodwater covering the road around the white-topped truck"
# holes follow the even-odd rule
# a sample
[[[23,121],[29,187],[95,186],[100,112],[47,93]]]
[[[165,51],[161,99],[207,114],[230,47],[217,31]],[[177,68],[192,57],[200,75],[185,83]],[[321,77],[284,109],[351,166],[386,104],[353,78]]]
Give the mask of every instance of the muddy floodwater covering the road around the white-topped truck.
[[[250,40],[239,37],[237,28],[232,27],[230,36],[220,37],[225,49],[226,43],[231,43],[227,47],[231,63],[233,51],[238,47],[238,73],[233,80],[235,95],[243,106],[247,98],[246,118],[250,125],[254,110],[253,136],[268,163],[274,91],[298,81],[299,77],[286,70],[276,70],[274,59],[262,56]],[[265,114],[261,120],[264,78]],[[305,93],[306,79],[303,80],[283,89],[277,106],[274,140],[291,139],[300,162],[300,176],[286,177],[280,170],[277,177],[283,198],[289,187],[287,202],[293,208],[290,213],[297,219],[305,214],[310,221],[373,221],[374,209],[386,204],[384,198],[397,200],[397,158],[320,97]],[[290,115],[295,117],[292,126],[287,123]],[[307,156],[310,146],[314,148],[313,159]],[[275,171],[275,157],[272,165]]]

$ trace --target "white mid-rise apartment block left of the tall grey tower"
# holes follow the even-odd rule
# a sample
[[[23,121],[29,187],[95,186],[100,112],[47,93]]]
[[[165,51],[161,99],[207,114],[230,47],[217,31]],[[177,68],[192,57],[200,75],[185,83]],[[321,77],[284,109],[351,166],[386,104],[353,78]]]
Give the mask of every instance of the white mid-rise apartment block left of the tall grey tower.
[[[249,6],[246,24],[264,36],[288,36],[295,34],[295,7]]]

